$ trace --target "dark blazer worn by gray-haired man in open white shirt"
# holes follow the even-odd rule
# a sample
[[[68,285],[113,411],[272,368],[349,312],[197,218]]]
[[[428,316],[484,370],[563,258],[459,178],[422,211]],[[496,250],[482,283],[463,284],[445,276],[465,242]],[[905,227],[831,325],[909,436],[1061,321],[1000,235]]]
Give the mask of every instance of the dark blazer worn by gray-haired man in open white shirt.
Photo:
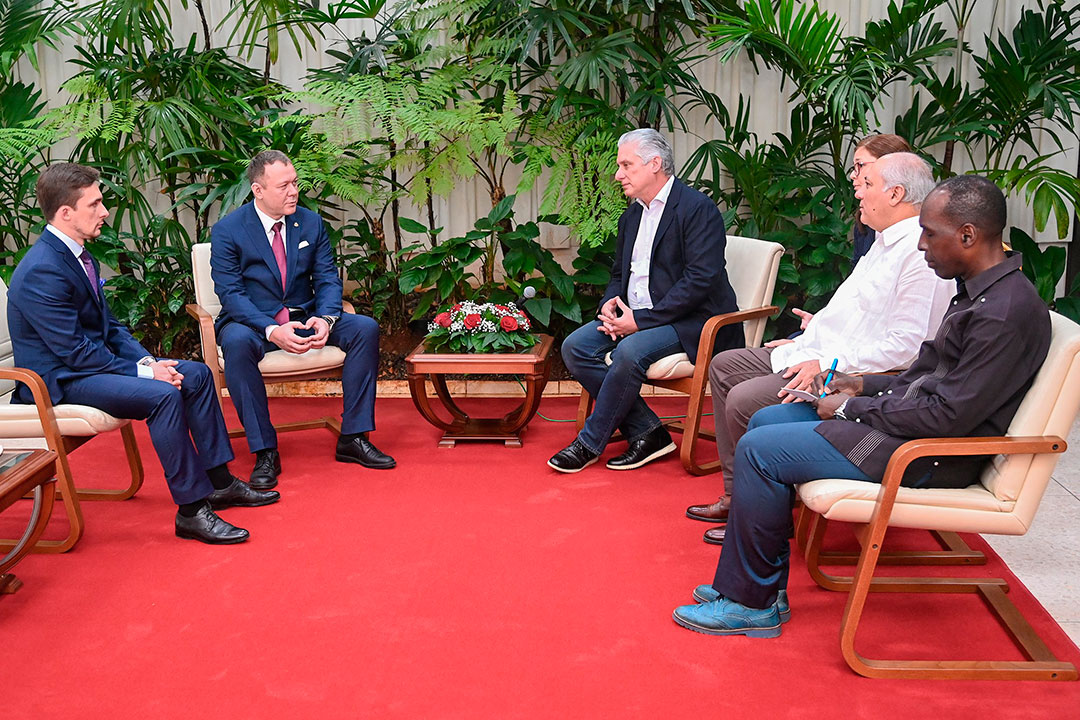
[[[611,282],[603,302],[617,295],[626,302],[630,260],[642,221],[642,205],[633,203],[619,218]],[[713,315],[739,309],[724,259],[724,218],[708,198],[678,178],[667,195],[649,264],[651,310],[635,310],[634,322],[646,330],[672,325],[691,362],[698,354],[701,328]],[[745,344],[742,323],[720,328],[713,352]]]

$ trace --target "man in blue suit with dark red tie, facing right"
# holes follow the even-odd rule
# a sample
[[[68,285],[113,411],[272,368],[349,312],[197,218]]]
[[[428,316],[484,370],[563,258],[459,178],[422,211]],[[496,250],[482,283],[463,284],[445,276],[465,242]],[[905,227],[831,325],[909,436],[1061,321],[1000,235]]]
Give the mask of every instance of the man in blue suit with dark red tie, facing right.
[[[221,301],[216,329],[229,386],[247,447],[255,453],[252,487],[278,485],[281,458],[258,364],[268,351],[302,354],[326,344],[346,353],[341,373],[345,411],[335,458],[374,470],[396,463],[367,437],[375,430],[379,326],[341,312],[341,280],[326,227],[298,207],[296,169],[276,150],[247,167],[253,202],[211,231],[211,268]]]

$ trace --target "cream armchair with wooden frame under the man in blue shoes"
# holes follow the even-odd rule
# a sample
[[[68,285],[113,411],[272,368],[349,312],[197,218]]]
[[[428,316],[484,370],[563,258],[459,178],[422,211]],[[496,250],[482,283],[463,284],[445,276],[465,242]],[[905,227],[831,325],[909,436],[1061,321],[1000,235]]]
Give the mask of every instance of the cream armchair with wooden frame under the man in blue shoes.
[[[893,454],[880,486],[854,480],[820,479],[798,487],[805,506],[805,554],[819,585],[849,593],[840,625],[840,647],[848,665],[875,678],[956,678],[996,680],[1075,680],[1077,670],[1058,661],[1005,595],[1001,579],[875,578],[887,559],[881,551],[889,527],[937,532],[1022,535],[1031,527],[1042,494],[1065,451],[1080,410],[1080,326],[1051,313],[1050,352],[1027,392],[1005,437],[953,437],[906,443]],[[916,458],[944,454],[995,456],[977,485],[962,489],[900,487],[904,470]],[[862,549],[854,576],[825,573],[831,565],[822,540],[831,521],[852,522]],[[896,554],[894,554],[896,555]],[[943,553],[941,555],[947,555]],[[928,563],[942,565],[943,558]],[[824,560],[824,561],[823,561]],[[917,565],[903,558],[903,565]],[[1026,662],[868,660],[855,651],[855,633],[868,593],[978,593],[1029,657]]]

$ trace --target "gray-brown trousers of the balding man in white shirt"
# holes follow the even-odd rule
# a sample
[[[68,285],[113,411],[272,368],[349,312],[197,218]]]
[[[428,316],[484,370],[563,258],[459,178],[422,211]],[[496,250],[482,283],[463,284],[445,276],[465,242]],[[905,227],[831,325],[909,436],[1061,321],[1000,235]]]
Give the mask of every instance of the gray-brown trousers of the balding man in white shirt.
[[[777,393],[791,380],[773,372],[769,348],[725,350],[708,364],[713,391],[713,421],[716,450],[724,470],[724,493],[731,495],[734,484],[735,445],[746,433],[751,417],[764,407],[779,405]]]

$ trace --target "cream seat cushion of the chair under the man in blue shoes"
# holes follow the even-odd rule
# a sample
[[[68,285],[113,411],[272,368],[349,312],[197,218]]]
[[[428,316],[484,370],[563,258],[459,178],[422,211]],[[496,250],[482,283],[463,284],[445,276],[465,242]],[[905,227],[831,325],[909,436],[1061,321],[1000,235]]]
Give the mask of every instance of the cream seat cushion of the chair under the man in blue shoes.
[[[798,486],[804,504],[829,520],[869,522],[881,486],[859,480],[822,479]],[[967,488],[901,488],[890,526],[960,532],[1023,534],[1027,527],[982,485]]]

